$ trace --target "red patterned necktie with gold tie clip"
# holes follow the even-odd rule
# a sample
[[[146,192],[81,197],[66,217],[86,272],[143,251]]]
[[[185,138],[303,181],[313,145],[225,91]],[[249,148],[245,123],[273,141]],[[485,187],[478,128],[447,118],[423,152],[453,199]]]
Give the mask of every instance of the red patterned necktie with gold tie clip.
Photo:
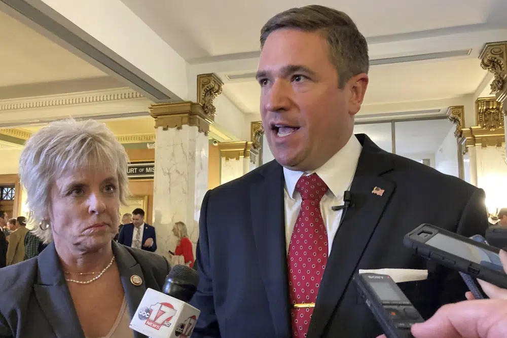
[[[315,303],[328,262],[328,232],[320,213],[328,186],[317,174],[303,175],[296,190],[303,201],[287,255],[291,305]],[[291,308],[294,337],[306,337],[312,313],[313,308]]]

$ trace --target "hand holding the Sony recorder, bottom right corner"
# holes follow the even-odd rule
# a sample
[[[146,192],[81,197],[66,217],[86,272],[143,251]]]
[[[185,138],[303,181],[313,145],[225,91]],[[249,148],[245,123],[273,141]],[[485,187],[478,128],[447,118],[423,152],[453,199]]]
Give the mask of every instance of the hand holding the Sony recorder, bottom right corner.
[[[483,299],[445,305],[412,327],[415,338],[500,338],[507,336],[507,302]]]

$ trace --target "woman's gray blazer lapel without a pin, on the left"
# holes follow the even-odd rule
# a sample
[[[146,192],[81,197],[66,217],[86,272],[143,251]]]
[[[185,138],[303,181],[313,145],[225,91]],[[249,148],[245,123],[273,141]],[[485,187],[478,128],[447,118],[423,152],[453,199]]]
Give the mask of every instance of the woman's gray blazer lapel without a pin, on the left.
[[[78,314],[56,253],[54,242],[37,257],[38,281],[33,285],[35,297],[58,338],[85,338]]]

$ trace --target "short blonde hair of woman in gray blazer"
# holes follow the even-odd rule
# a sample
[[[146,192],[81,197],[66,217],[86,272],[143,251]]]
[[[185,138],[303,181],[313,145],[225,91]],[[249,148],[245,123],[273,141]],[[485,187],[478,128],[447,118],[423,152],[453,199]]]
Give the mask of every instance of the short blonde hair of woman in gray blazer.
[[[108,168],[118,175],[120,202],[126,204],[128,156],[123,145],[105,124],[94,120],[56,121],[33,134],[19,159],[19,176],[27,193],[29,222],[33,233],[44,243],[53,239],[52,230],[43,230],[41,222],[51,208],[51,187],[63,172],[85,167]]]

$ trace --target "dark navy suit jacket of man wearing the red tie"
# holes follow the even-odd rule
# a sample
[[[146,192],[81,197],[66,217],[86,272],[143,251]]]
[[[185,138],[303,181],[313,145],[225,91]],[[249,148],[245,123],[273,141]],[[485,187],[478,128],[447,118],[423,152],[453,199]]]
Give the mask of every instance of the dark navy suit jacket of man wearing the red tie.
[[[333,240],[308,338],[371,338],[382,333],[357,293],[359,269],[424,269],[428,279],[400,283],[421,315],[464,300],[457,272],[403,245],[421,223],[464,236],[484,234],[484,191],[459,178],[387,153],[366,135],[350,188],[350,207]],[[337,173],[339,175],[340,173]],[[372,194],[376,187],[382,196]],[[193,337],[287,338],[289,313],[282,167],[275,161],[208,191],[199,220],[201,310]]]

